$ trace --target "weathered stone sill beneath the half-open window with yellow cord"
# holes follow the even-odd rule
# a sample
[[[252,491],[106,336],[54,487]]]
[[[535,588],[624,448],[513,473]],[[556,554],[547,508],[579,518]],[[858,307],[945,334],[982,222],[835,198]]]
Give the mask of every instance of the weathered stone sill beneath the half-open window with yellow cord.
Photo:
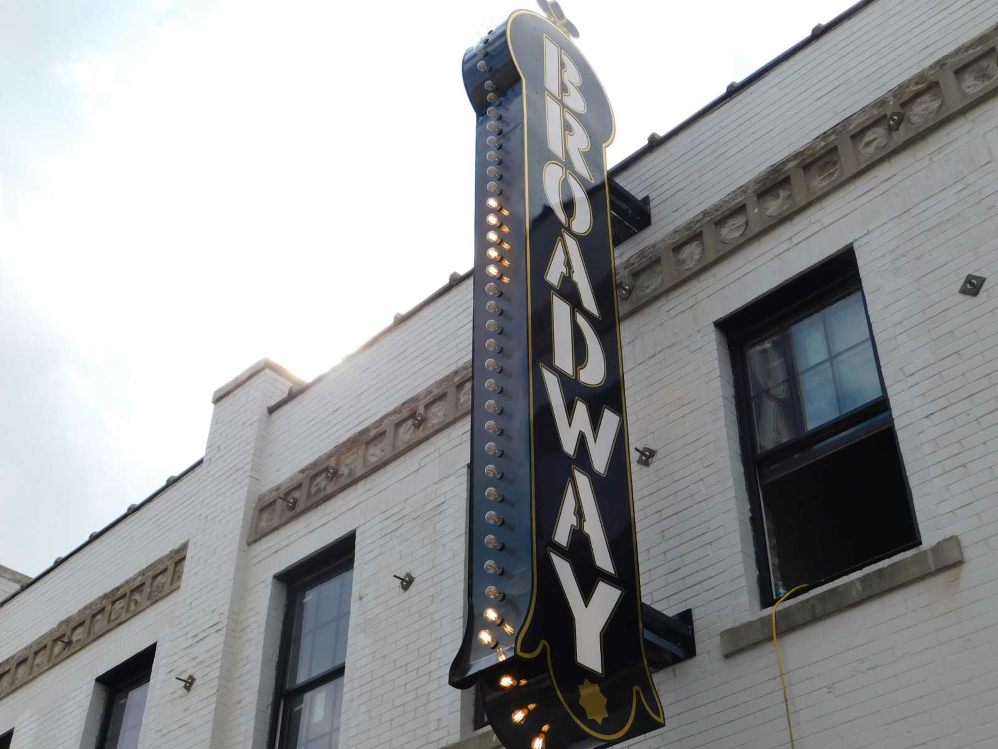
[[[951,535],[883,567],[871,569],[856,578],[819,590],[814,595],[784,604],[776,617],[776,631],[779,634],[788,632],[962,563],[963,547],[960,539]],[[762,616],[722,630],[721,654],[728,658],[771,639],[772,619],[770,609],[766,609]]]

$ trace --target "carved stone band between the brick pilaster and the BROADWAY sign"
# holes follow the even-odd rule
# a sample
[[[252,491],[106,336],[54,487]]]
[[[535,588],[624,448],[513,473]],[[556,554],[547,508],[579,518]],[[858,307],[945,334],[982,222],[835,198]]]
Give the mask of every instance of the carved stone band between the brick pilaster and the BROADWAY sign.
[[[471,363],[438,379],[256,500],[250,543],[445,429],[471,408]]]

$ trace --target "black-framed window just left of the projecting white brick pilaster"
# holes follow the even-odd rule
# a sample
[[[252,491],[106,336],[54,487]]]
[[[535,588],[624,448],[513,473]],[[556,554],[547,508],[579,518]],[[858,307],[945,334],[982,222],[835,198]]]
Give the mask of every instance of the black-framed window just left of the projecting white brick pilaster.
[[[98,749],[136,749],[139,746],[155,654],[154,645],[98,678],[108,694]]]

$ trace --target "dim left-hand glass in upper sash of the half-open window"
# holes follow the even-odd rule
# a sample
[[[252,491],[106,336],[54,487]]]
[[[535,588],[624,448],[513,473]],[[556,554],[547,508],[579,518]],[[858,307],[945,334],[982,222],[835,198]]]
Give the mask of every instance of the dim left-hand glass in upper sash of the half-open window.
[[[775,337],[749,349],[752,411],[760,450],[774,447],[797,432],[786,361],[779,343]]]

